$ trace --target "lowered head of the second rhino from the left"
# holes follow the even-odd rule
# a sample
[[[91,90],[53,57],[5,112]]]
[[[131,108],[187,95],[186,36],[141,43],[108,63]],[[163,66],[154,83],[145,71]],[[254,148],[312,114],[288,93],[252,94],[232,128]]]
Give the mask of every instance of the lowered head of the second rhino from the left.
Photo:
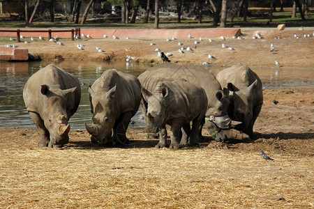
[[[107,92],[94,92],[91,86],[88,88],[91,95],[91,113],[93,114],[91,121],[93,124],[89,127],[84,123],[84,126],[87,132],[91,134],[91,141],[94,143],[107,144],[112,142],[112,128],[117,115],[116,90],[117,84]]]

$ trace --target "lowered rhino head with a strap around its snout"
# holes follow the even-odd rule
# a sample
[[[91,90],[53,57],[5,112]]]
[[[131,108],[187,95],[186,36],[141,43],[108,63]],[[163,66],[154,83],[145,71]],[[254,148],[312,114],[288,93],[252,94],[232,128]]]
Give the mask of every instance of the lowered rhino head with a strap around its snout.
[[[225,141],[227,134],[223,130],[228,130],[239,124],[232,121],[228,116],[229,91],[227,88],[214,91],[214,96],[209,100],[209,108],[205,115],[205,125],[211,137],[216,141]]]

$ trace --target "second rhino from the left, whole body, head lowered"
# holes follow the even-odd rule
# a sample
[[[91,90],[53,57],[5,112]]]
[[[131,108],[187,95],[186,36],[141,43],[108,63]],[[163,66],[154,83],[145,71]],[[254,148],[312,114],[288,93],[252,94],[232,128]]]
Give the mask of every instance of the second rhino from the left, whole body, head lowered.
[[[93,124],[91,127],[84,125],[91,134],[91,141],[108,145],[127,144],[126,130],[142,98],[138,79],[119,70],[106,70],[88,91]]]

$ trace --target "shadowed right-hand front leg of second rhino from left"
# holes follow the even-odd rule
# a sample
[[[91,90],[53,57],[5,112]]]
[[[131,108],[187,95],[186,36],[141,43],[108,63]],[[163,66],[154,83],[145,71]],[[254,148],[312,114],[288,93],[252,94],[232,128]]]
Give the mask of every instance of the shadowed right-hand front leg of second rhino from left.
[[[121,146],[128,145],[128,138],[126,137],[126,130],[128,129],[128,124],[130,123],[130,119],[134,116],[133,111],[128,111],[118,118],[116,123],[114,124],[114,132],[112,138],[112,144],[119,144]]]

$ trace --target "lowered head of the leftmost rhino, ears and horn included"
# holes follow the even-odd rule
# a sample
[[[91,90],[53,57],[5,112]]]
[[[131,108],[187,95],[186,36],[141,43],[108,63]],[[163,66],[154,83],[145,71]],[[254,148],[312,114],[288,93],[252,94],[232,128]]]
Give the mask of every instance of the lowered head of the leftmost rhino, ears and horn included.
[[[50,86],[42,85],[40,93],[45,95],[44,114],[42,116],[45,127],[50,132],[49,146],[61,147],[68,144],[68,114],[66,112],[66,98],[72,94],[75,89],[69,88],[61,90],[60,88],[50,88]]]

